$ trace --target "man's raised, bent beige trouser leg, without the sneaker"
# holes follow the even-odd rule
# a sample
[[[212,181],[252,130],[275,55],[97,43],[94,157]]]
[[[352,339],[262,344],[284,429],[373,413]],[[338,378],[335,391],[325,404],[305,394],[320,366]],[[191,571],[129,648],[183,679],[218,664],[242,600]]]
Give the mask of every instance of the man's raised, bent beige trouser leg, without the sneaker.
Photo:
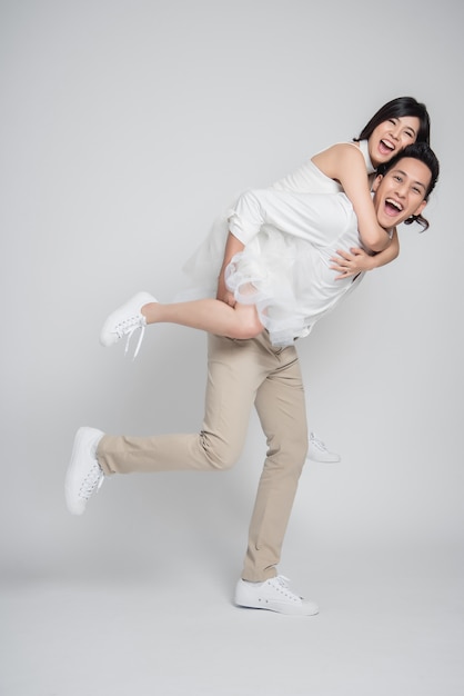
[[[199,434],[105,435],[97,449],[104,474],[220,470],[243,447],[256,390],[264,379],[253,341],[209,336],[205,412]]]

